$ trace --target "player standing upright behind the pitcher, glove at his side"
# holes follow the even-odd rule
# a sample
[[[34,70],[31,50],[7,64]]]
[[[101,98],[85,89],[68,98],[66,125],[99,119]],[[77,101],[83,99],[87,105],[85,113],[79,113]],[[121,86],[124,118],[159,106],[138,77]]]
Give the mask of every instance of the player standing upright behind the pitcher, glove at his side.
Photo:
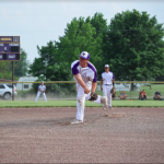
[[[107,97],[107,103],[109,108],[113,108],[110,90],[115,85],[114,82],[115,82],[114,73],[109,71],[109,66],[105,65],[105,72],[102,73],[101,90],[103,91],[103,95]]]

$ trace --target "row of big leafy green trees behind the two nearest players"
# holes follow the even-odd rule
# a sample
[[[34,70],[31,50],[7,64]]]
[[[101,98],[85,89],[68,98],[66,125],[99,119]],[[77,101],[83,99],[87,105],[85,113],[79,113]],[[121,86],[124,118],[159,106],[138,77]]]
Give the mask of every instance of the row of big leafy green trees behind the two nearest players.
[[[163,24],[137,10],[115,14],[109,25],[102,13],[74,17],[59,42],[37,46],[39,57],[30,66],[30,73],[50,81],[70,81],[71,62],[89,51],[98,80],[106,63],[117,80],[154,80],[164,74],[163,36]]]

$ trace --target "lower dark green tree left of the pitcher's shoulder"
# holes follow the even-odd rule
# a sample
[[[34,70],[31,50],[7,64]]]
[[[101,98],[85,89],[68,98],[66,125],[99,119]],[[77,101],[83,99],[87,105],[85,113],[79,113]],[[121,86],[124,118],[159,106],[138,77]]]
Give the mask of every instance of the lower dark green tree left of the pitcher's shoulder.
[[[56,42],[47,43],[47,46],[37,46],[39,58],[35,58],[30,66],[30,73],[34,77],[44,75],[50,81],[69,81],[72,79],[70,63],[67,57],[60,54]],[[66,59],[65,59],[66,58]]]

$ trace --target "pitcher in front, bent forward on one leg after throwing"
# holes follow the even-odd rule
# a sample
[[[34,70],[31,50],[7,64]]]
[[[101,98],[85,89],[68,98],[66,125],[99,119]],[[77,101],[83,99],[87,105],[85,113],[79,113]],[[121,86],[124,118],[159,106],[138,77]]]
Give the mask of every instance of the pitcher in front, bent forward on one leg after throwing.
[[[77,117],[71,124],[83,122],[85,99],[91,98],[91,91],[95,92],[97,85],[97,71],[95,67],[89,62],[90,54],[83,51],[79,60],[71,65],[72,74],[77,83]],[[107,107],[107,98],[105,96],[97,96],[97,104],[104,104]]]

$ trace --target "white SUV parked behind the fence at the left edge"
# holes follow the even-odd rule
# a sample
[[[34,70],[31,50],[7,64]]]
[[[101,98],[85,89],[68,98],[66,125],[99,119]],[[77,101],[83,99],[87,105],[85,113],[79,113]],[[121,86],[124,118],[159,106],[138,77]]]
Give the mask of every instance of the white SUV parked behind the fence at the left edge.
[[[0,97],[10,99],[12,95],[12,84],[0,84]],[[14,85],[14,96],[17,95],[16,87]]]

